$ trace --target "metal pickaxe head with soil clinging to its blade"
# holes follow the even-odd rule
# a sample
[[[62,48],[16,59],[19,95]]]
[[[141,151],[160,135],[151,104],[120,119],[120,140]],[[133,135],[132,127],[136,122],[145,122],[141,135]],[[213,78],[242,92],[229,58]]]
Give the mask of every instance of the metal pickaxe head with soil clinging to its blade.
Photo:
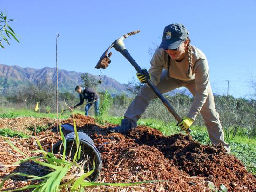
[[[109,52],[109,50],[114,47],[116,51],[120,51],[125,49],[123,40],[128,38],[131,35],[135,35],[137,33],[139,33],[140,30],[137,31],[132,31],[130,33],[124,34],[123,36],[121,36],[120,38],[118,38],[117,40],[115,40],[111,46],[108,47],[108,49],[102,54],[100,60],[98,61],[97,65],[95,66],[96,69],[106,69],[109,65],[109,63],[111,62],[110,57],[112,55],[111,52]],[[108,53],[109,52],[109,53]]]

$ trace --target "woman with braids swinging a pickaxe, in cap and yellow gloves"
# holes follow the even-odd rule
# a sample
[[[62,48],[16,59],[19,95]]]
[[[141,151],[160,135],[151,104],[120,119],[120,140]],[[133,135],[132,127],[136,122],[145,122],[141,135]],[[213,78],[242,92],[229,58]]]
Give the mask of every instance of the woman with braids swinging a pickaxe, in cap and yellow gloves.
[[[224,141],[219,114],[215,109],[206,56],[200,49],[190,45],[189,32],[182,24],[175,23],[164,28],[162,42],[150,63],[149,73],[146,69],[137,73],[142,83],[151,79],[161,93],[186,87],[194,96],[189,113],[178,126],[183,131],[188,130],[196,116],[201,113],[211,142],[222,143],[227,152],[230,152],[229,144]],[[150,100],[155,97],[153,90],[144,84],[128,107],[121,125],[109,129],[112,132],[128,132],[135,128]]]

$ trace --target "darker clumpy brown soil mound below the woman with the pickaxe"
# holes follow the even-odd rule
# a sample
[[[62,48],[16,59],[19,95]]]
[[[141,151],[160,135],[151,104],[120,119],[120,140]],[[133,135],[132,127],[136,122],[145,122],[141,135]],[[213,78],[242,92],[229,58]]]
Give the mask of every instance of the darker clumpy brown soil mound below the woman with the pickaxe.
[[[217,186],[224,184],[230,191],[256,191],[256,177],[246,171],[239,159],[227,154],[222,145],[202,145],[183,134],[164,137],[146,126],[139,126],[128,136],[140,144],[156,147],[191,176],[206,177]]]

